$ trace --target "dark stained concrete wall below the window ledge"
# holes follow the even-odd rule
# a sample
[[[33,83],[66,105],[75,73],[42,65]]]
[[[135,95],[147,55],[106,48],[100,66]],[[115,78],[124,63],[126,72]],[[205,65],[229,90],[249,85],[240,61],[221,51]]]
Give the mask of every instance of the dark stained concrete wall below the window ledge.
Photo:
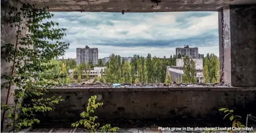
[[[53,95],[60,95],[65,101],[55,105],[52,112],[41,115],[42,122],[79,119],[92,95],[104,102],[95,114],[107,119],[198,119],[215,116],[222,107],[234,109],[243,117],[256,113],[256,88],[51,89],[48,96]]]

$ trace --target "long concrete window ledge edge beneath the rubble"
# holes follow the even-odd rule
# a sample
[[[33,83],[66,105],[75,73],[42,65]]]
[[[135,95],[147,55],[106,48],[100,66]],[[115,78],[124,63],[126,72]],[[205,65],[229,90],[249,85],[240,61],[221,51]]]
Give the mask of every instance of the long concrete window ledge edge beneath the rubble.
[[[52,88],[52,92],[123,92],[123,91],[256,91],[256,87],[175,87],[175,88]]]

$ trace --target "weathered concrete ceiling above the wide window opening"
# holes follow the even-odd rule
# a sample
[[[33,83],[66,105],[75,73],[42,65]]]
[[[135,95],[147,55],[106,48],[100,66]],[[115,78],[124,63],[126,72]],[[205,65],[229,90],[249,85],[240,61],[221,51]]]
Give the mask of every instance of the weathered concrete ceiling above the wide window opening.
[[[164,12],[216,11],[227,5],[256,4],[256,0],[20,0],[48,6],[51,11]]]

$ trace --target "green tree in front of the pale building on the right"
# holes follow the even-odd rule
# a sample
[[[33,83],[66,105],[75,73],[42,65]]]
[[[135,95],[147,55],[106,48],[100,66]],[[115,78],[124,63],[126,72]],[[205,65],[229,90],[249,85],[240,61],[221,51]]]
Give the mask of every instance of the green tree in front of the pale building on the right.
[[[183,83],[196,83],[196,65],[193,60],[190,60],[188,56],[183,59]]]

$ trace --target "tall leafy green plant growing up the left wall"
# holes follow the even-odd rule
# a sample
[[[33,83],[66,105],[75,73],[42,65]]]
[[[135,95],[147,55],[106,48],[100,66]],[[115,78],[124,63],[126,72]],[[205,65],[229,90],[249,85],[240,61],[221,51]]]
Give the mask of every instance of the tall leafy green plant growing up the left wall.
[[[5,103],[1,103],[3,110],[1,132],[5,119],[12,121],[7,125],[17,131],[23,126],[31,126],[39,123],[37,112],[51,111],[54,104],[63,101],[60,96],[42,98],[48,88],[56,86],[57,79],[65,75],[45,73],[54,65],[48,62],[59,56],[63,56],[69,44],[59,42],[66,36],[65,28],[54,28],[58,22],[48,21],[54,15],[49,13],[48,7],[36,9],[35,5],[23,4],[21,8],[9,7],[8,25],[16,29],[16,41],[1,47],[8,56],[1,59],[12,64],[12,72],[9,75],[1,75],[1,87],[8,89]],[[49,42],[51,41],[51,42]],[[1,80],[2,81],[2,80]],[[12,92],[11,89],[15,91]],[[12,97],[14,104],[8,103]],[[31,99],[21,106],[23,99]],[[5,118],[7,113],[7,118]],[[20,115],[20,117],[18,117]]]

